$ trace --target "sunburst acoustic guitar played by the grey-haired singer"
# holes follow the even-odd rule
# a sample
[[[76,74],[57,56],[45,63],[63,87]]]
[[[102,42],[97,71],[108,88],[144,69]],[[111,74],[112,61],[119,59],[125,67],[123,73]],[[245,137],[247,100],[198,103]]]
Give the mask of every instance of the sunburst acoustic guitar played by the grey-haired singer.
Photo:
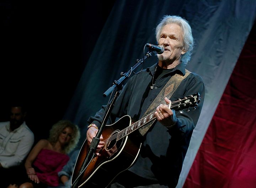
[[[191,107],[198,106],[200,102],[200,94],[195,93],[184,98],[172,101],[169,105],[170,109],[180,111],[183,109],[190,110]],[[181,111],[182,113],[183,111]],[[147,123],[156,120],[155,112],[150,113],[144,118],[132,123],[131,117],[126,115],[120,118],[112,125],[106,125],[102,131],[105,139],[105,146],[100,151],[100,156],[94,155],[93,159],[87,166],[82,175],[79,188],[104,188],[107,187],[113,179],[121,172],[130,168],[137,156],[139,155],[142,143],[132,141],[128,135],[135,130],[142,128]],[[80,169],[86,158],[89,145],[87,140],[84,141],[78,158],[75,163],[71,184],[78,177]]]

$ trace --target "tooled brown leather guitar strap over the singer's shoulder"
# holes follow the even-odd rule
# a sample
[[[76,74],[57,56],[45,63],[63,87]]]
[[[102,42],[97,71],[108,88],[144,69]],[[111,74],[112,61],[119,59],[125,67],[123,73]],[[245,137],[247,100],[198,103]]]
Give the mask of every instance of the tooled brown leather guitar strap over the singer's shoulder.
[[[185,71],[186,71],[186,74],[184,76],[175,74],[170,78],[170,80],[166,83],[164,88],[162,88],[161,92],[158,94],[155,100],[151,103],[150,107],[147,109],[147,111],[145,112],[142,118],[156,111],[156,107],[158,107],[160,104],[165,104],[165,100],[164,100],[165,97],[171,98],[172,94],[180,85],[181,81],[184,80],[190,74],[190,71],[188,71],[187,69],[185,69]],[[149,130],[149,128],[155,122],[155,120],[156,119],[147,123],[146,125],[144,125],[142,128],[139,129],[139,132],[142,136],[146,134],[146,132]]]

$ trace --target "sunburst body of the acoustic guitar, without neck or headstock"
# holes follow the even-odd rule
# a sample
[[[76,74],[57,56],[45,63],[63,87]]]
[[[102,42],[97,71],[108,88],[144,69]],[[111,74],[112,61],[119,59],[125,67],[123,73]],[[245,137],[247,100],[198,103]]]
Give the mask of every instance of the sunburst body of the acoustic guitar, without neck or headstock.
[[[141,143],[134,143],[128,136],[116,141],[115,136],[120,130],[127,128],[127,125],[131,125],[130,116],[124,116],[114,124],[105,126],[102,136],[105,143],[107,143],[103,150],[100,151],[101,155],[94,157],[86,168],[83,177],[78,183],[79,188],[107,187],[119,173],[133,165],[139,154]],[[88,149],[89,145],[85,140],[76,160],[71,179],[72,184],[78,177]]]

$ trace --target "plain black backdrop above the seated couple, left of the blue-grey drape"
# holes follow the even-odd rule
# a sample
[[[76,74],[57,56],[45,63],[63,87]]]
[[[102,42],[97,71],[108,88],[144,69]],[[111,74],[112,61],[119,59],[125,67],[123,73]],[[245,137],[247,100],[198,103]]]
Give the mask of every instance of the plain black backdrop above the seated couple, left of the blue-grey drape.
[[[35,141],[62,119],[114,0],[0,2],[0,121],[25,101]]]

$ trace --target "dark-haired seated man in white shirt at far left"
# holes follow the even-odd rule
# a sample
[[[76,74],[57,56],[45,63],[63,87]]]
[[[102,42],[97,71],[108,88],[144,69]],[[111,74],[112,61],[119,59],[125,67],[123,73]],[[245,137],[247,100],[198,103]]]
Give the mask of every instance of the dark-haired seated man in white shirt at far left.
[[[25,123],[24,106],[12,104],[10,110],[10,121],[0,122],[0,174],[4,188],[22,178],[22,162],[34,144],[34,134]]]

